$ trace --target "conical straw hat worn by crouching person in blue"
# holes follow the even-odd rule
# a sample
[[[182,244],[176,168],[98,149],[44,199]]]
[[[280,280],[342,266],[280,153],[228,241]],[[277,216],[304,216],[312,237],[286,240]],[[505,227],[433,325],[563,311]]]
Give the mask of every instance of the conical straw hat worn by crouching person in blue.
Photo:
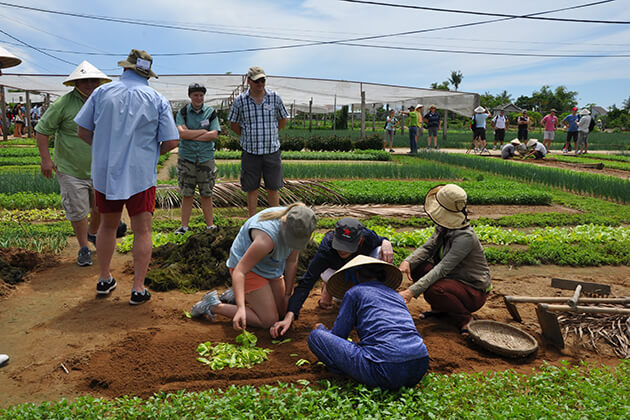
[[[402,282],[402,273],[395,265],[381,261],[366,255],[357,255],[348,261],[343,267],[335,271],[326,283],[328,293],[337,299],[343,299],[346,292],[355,284],[358,279],[355,270],[359,267],[369,266],[370,268],[382,268],[385,270],[385,278],[382,279],[383,284],[394,290],[400,286]]]

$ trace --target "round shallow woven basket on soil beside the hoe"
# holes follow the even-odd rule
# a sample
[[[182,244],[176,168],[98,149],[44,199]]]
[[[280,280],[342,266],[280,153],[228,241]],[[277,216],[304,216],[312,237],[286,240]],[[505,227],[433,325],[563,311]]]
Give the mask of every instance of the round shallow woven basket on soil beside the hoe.
[[[534,337],[503,322],[472,321],[468,331],[475,343],[501,356],[526,357],[538,350]]]

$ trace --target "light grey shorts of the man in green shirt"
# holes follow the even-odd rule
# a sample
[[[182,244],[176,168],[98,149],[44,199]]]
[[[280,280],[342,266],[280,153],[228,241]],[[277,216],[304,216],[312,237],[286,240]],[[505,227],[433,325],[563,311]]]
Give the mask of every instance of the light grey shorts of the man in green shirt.
[[[78,222],[85,219],[94,206],[94,185],[91,179],[79,179],[57,171],[61,189],[61,207],[66,219]]]

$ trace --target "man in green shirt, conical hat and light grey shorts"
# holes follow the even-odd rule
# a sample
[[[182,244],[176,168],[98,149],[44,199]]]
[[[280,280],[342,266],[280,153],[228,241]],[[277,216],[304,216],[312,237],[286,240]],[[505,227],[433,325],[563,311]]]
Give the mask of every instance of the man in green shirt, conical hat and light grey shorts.
[[[72,223],[79,242],[77,264],[92,265],[92,252],[88,247],[88,235],[95,235],[99,217],[94,206],[94,187],[90,174],[91,147],[77,136],[77,115],[92,91],[111,79],[87,61],[83,61],[64,80],[74,89],[57,99],[35,126],[35,138],[42,159],[41,171],[46,178],[57,174],[61,189],[61,205],[66,218]],[[54,157],[48,150],[48,139],[55,136]],[[88,213],[91,213],[88,226]]]

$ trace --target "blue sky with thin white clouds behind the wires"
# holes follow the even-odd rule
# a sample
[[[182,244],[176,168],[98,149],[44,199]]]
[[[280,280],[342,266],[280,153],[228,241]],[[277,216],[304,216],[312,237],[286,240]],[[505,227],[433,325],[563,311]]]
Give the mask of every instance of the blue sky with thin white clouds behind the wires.
[[[588,0],[504,2],[384,0],[395,4],[479,12],[528,14],[586,4]],[[630,97],[630,25],[511,19],[463,28],[358,41],[386,48],[317,45],[236,52],[234,50],[337,41],[435,29],[496,19],[488,16],[394,8],[339,0],[10,0],[4,3],[81,15],[132,19],[195,30],[99,21],[0,4],[0,45],[22,58],[15,73],[69,74],[87,59],[109,74],[131,48],[154,55],[158,74],[240,74],[251,65],[268,74],[360,80],[429,87],[452,70],[464,75],[459,90],[493,94],[507,90],[516,99],[542,85],[578,92],[579,105],[620,106]],[[627,0],[545,14],[546,17],[630,21]],[[282,39],[284,38],[284,39]],[[513,57],[411,51],[396,48],[518,52],[568,55],[626,55],[621,58]],[[222,54],[160,54],[232,51]],[[88,55],[114,54],[108,55]]]

